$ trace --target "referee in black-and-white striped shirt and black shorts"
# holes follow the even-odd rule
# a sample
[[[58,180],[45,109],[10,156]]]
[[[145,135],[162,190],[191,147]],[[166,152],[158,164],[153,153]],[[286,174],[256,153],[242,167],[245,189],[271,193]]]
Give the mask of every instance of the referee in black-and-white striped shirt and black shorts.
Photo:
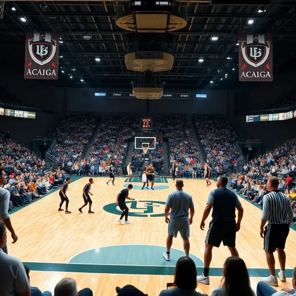
[[[268,194],[263,197],[263,212],[260,226],[260,235],[264,232],[264,250],[266,260],[270,271],[270,276],[262,278],[263,281],[278,286],[276,278],[274,252],[278,253],[281,270],[278,273],[281,281],[286,281],[285,264],[286,253],[284,251],[285,243],[289,234],[290,224],[293,219],[293,210],[289,198],[278,190],[279,179],[269,177],[267,180]],[[263,230],[266,221],[268,222]]]

